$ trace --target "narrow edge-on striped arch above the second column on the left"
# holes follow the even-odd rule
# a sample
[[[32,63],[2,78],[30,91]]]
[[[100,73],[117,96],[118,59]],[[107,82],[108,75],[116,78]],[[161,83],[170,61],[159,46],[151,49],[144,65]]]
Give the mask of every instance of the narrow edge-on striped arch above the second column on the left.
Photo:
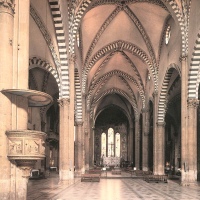
[[[74,72],[74,81],[75,81],[75,94],[76,94],[76,104],[75,104],[75,121],[82,122],[82,94],[81,94],[81,84],[78,70],[75,69]]]

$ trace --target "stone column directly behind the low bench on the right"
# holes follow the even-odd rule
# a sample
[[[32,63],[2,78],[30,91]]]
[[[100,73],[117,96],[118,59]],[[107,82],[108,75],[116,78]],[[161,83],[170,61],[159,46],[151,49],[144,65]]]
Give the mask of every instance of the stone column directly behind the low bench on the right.
[[[155,149],[154,159],[156,166],[154,168],[154,174],[163,175],[165,174],[165,122],[157,123],[157,132],[154,134],[155,138]]]

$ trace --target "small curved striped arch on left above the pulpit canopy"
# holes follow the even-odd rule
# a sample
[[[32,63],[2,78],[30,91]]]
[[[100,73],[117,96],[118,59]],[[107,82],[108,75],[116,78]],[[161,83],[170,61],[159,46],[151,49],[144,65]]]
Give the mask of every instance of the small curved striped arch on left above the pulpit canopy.
[[[60,77],[57,71],[49,63],[37,57],[33,57],[29,59],[29,69],[33,69],[34,67],[39,67],[41,69],[48,71],[50,74],[52,74],[52,76],[55,78],[58,84],[58,90],[60,94],[61,84],[60,84]]]

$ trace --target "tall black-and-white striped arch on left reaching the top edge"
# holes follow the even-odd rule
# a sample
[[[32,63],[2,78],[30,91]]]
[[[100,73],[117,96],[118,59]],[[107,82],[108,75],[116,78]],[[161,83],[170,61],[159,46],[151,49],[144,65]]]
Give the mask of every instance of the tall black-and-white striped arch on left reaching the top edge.
[[[51,14],[54,21],[56,38],[58,43],[58,51],[60,57],[60,70],[61,70],[61,82],[62,82],[61,97],[69,98],[69,91],[70,91],[69,64],[67,56],[67,47],[65,42],[65,32],[63,28],[63,21],[62,21],[59,1],[49,0],[49,5],[51,8]]]

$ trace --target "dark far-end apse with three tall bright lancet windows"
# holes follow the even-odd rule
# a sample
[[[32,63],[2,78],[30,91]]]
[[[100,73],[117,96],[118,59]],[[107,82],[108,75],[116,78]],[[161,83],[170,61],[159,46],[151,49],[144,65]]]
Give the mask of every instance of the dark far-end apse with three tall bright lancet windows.
[[[96,119],[94,131],[94,162],[99,166],[120,166],[127,160],[129,123],[119,107],[111,105]]]

